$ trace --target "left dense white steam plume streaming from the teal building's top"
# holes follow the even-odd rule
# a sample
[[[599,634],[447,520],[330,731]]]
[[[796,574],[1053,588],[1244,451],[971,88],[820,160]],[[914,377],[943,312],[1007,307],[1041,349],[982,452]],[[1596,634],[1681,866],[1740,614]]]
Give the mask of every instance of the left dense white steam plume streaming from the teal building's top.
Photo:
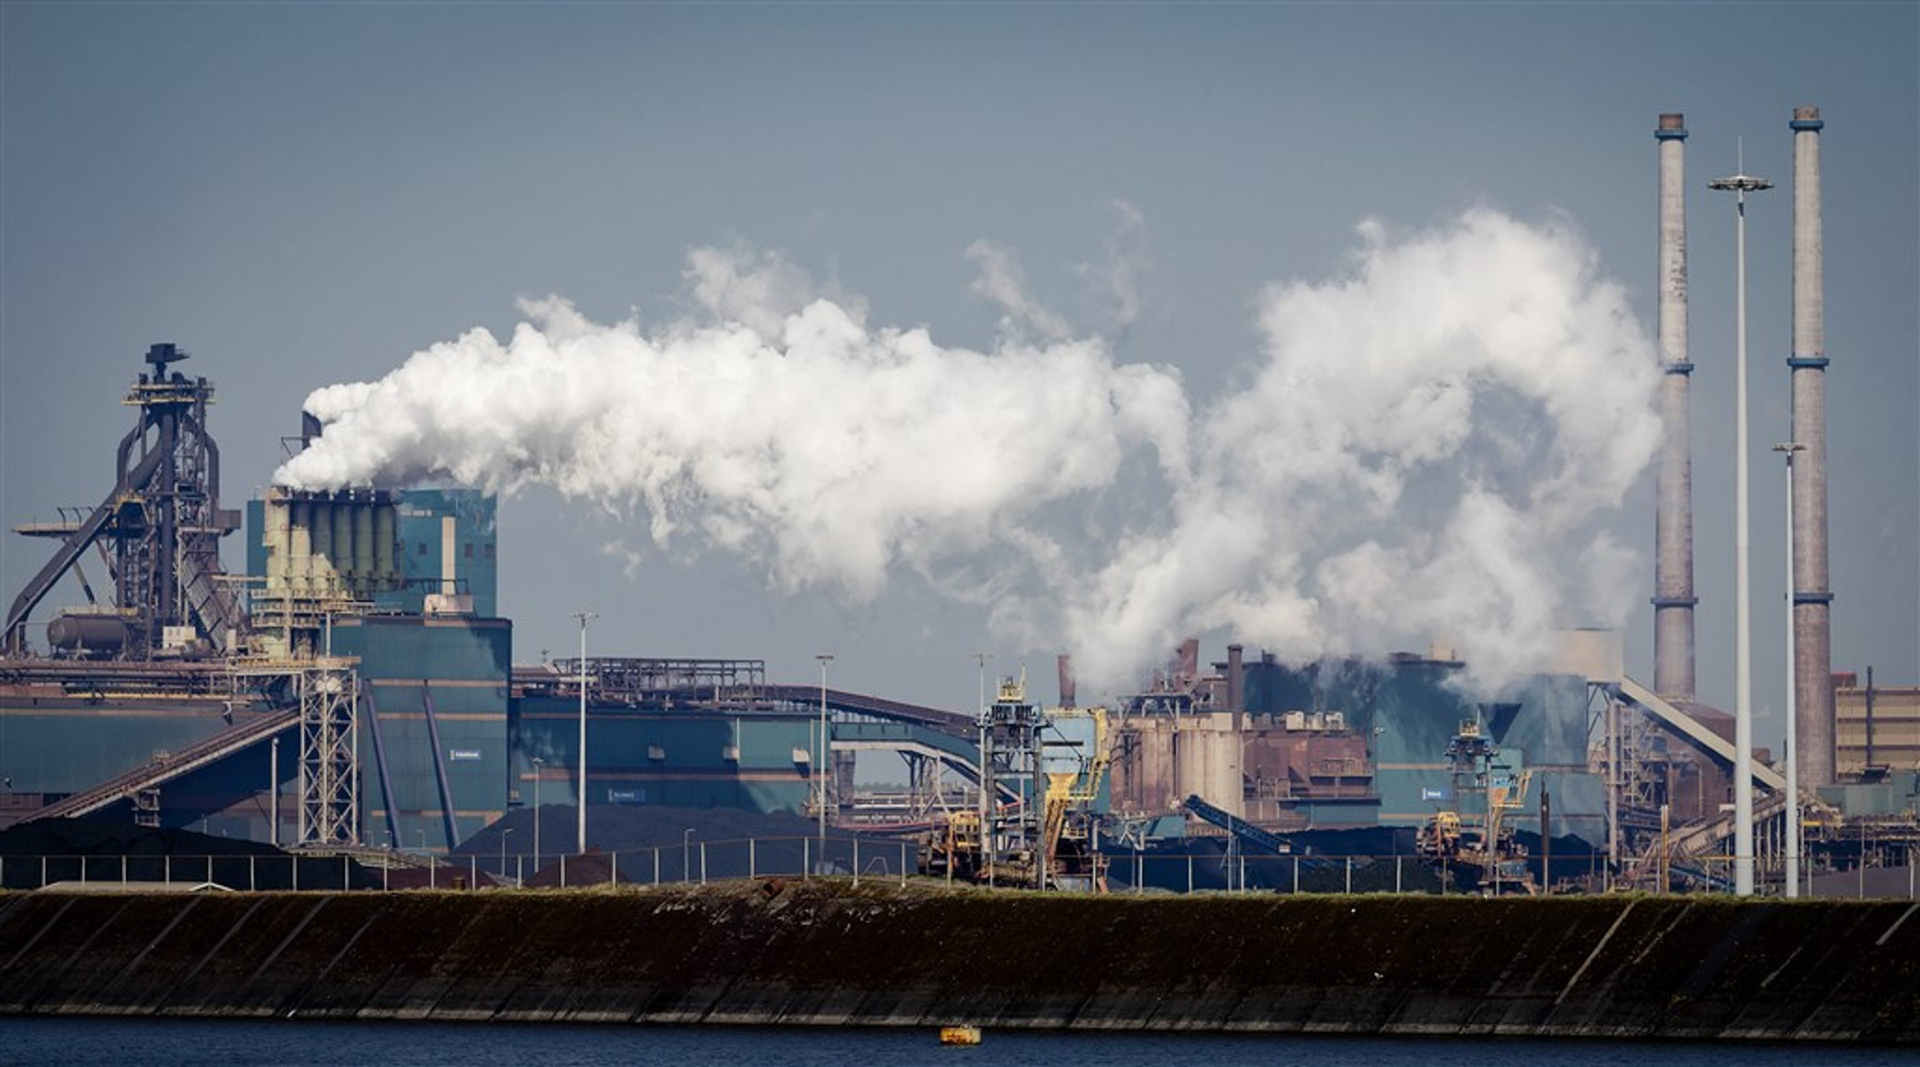
[[[781,591],[866,601],[897,564],[1021,539],[1129,453],[1181,462],[1169,370],[1116,367],[1098,342],[948,349],[806,299],[778,259],[691,263],[710,322],[645,332],[530,301],[505,342],[472,330],[378,382],[315,391],[324,430],[275,482],[547,484],[643,509],[659,547],[685,537],[764,560]]]

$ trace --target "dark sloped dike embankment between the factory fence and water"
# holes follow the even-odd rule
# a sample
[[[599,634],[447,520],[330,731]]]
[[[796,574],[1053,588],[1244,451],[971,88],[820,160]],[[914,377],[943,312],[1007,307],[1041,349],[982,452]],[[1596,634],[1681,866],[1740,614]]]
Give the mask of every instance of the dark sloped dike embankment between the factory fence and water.
[[[845,881],[6,894],[0,1013],[1920,1044],[1920,904]]]

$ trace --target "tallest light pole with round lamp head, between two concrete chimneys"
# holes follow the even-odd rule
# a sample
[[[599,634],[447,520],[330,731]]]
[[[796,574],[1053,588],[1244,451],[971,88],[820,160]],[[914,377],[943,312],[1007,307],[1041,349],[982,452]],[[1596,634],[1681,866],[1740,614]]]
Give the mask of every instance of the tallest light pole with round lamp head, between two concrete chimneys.
[[[1734,194],[1734,892],[1753,896],[1753,606],[1747,578],[1747,194],[1774,188],[1766,178],[1734,175],[1707,188]]]

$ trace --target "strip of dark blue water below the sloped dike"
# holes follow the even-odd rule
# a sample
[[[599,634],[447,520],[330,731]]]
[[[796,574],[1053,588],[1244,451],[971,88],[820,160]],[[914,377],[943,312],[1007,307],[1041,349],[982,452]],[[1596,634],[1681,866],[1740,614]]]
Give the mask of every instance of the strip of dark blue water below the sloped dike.
[[[743,1067],[1864,1067],[1920,1063],[1893,1048],[1494,1038],[1062,1034],[989,1031],[941,1048],[933,1031],[0,1017],[0,1065],[221,1063]]]

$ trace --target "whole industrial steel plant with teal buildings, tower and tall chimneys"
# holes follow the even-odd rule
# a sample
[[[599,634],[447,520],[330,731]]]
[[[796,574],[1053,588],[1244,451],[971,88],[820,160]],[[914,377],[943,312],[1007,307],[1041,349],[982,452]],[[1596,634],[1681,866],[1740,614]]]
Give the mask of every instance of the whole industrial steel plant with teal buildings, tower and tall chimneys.
[[[1066,656],[1052,700],[981,656],[977,706],[927,708],[833,689],[826,658],[818,681],[781,681],[753,658],[589,656],[586,614],[578,656],[516,662],[492,497],[273,487],[223,507],[213,384],[156,344],[98,507],[15,528],[54,549],[4,624],[0,829],[106,814],[417,864],[518,808],[576,808],[572,833],[515,839],[540,869],[591,848],[591,808],[737,808],[899,837],[925,875],[1058,890],[1127,885],[1140,867],[1123,858],[1196,846],[1225,858],[1215,881],[1269,889],[1284,887],[1231,858],[1409,856],[1450,892],[1799,894],[1910,867],[1920,687],[1836,674],[1830,641],[1820,130],[1816,107],[1793,111],[1788,752],[1753,747],[1745,597],[1736,708],[1695,691],[1695,618],[1734,605],[1693,583],[1690,405],[1709,382],[1688,351],[1688,130],[1667,113],[1651,685],[1592,629],[1484,695],[1446,643],[1286,664],[1187,641],[1108,706],[1079,704]],[[1766,182],[1713,188],[1743,211]],[[1715,390],[1736,378],[1713,370]],[[296,441],[321,432],[309,416]],[[1741,491],[1749,580],[1743,510]],[[240,572],[221,557],[234,535]],[[900,760],[904,787],[856,781],[872,752]]]

